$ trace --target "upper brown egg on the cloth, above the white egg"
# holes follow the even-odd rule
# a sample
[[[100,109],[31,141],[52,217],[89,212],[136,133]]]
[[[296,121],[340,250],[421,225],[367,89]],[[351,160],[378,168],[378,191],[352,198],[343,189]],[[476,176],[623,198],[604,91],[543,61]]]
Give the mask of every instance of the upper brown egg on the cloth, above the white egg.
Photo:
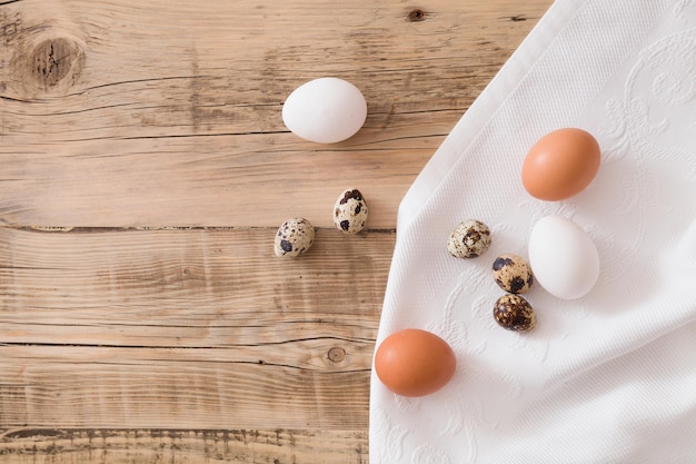
[[[525,189],[535,198],[557,201],[583,191],[600,164],[599,144],[578,128],[554,130],[528,151],[521,170]]]

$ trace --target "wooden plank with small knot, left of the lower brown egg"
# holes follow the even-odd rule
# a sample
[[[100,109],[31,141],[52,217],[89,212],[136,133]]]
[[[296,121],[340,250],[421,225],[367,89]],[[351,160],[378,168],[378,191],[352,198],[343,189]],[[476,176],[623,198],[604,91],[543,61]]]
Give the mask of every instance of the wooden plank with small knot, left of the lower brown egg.
[[[331,342],[267,345],[267,355],[6,346],[0,417],[6,427],[366,430],[369,367],[351,359],[369,358],[369,344]],[[349,356],[330,362],[335,347]]]

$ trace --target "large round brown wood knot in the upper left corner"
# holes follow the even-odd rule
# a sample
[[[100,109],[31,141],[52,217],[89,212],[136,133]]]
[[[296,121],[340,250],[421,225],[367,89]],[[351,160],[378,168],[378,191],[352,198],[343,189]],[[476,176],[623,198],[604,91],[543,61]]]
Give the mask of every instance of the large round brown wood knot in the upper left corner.
[[[48,90],[67,77],[74,82],[81,71],[82,49],[74,42],[56,38],[43,40],[32,51],[29,70],[39,87]]]

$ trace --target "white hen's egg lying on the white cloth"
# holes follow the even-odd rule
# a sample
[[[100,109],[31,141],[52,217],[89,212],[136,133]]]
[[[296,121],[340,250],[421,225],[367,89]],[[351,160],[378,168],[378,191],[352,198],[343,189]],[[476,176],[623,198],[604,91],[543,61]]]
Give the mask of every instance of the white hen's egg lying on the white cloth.
[[[599,277],[599,254],[591,238],[560,216],[546,216],[534,225],[528,256],[536,282],[561,299],[587,295]]]

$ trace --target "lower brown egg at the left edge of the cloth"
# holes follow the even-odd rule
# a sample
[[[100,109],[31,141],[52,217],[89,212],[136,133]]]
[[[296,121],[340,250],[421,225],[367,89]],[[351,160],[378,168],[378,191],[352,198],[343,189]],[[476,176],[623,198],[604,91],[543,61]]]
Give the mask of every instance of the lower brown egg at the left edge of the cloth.
[[[455,375],[451,347],[437,335],[407,328],[389,335],[375,353],[380,382],[401,396],[425,396],[443,388]]]

